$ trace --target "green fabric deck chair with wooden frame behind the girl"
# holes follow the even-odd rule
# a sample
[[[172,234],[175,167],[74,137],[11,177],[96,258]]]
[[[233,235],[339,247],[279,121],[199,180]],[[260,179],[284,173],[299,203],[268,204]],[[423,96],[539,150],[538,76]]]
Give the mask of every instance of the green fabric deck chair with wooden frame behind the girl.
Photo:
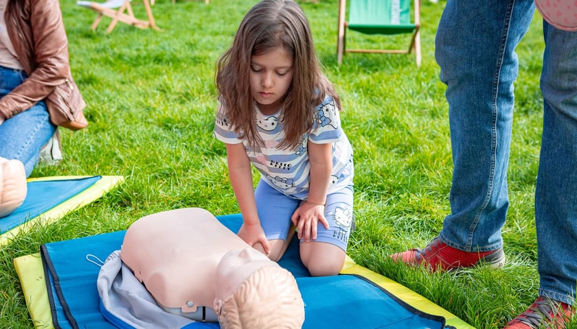
[[[411,21],[411,2],[414,1],[414,21]],[[343,54],[350,53],[404,53],[414,49],[417,66],[421,63],[420,52],[420,0],[339,0],[339,30],[337,40],[337,63],[343,62]],[[363,34],[410,34],[408,49],[346,49],[346,29]]]

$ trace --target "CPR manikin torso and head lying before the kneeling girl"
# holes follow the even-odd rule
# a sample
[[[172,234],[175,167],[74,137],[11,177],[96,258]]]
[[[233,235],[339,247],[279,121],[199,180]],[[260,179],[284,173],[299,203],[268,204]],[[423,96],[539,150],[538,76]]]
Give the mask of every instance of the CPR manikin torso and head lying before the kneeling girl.
[[[221,328],[301,328],[293,275],[249,247],[207,210],[142,217],[126,231],[122,262],[166,312]]]

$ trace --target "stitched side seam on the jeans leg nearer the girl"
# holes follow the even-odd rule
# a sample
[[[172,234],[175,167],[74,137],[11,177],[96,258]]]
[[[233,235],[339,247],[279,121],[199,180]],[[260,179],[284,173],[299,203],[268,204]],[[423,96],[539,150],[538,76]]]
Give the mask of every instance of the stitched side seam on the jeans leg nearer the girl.
[[[467,244],[465,246],[465,250],[471,251],[473,246],[473,234],[477,229],[477,225],[479,224],[479,220],[481,219],[481,215],[483,214],[484,210],[487,208],[491,196],[493,195],[493,186],[495,182],[495,166],[497,162],[497,117],[499,117],[499,108],[497,107],[497,95],[499,93],[499,79],[501,77],[501,69],[503,67],[503,60],[504,60],[504,53],[507,45],[507,39],[509,36],[509,27],[511,23],[511,16],[514,7],[514,0],[510,1],[509,6],[506,12],[506,19],[504,21],[503,32],[504,34],[501,36],[501,47],[499,47],[499,54],[497,56],[497,62],[495,63],[495,77],[493,79],[493,88],[491,93],[491,166],[490,166],[490,178],[488,180],[488,190],[485,201],[483,202],[482,206],[479,207],[477,214],[475,215],[475,219],[471,227],[469,228],[469,236],[467,239]]]

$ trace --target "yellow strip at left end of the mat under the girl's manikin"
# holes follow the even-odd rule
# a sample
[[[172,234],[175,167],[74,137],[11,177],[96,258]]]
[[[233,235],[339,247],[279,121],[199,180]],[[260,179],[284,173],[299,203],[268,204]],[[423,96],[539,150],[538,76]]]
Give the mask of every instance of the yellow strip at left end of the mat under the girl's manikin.
[[[24,300],[34,328],[53,329],[40,253],[14,258],[14,268],[20,279]]]

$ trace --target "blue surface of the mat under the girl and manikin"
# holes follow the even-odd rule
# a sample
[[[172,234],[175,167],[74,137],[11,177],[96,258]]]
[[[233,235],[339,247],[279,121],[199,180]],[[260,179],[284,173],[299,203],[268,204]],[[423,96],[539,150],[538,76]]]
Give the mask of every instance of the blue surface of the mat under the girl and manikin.
[[[240,215],[217,218],[233,232],[237,232],[242,223]],[[116,328],[100,312],[96,290],[100,267],[95,263],[120,249],[124,233],[41,246],[55,328]],[[444,317],[410,306],[367,278],[354,274],[311,278],[299,260],[297,239],[291,241],[279,264],[293,273],[301,290],[305,303],[303,328],[445,328]],[[219,328],[214,323],[194,325]]]

